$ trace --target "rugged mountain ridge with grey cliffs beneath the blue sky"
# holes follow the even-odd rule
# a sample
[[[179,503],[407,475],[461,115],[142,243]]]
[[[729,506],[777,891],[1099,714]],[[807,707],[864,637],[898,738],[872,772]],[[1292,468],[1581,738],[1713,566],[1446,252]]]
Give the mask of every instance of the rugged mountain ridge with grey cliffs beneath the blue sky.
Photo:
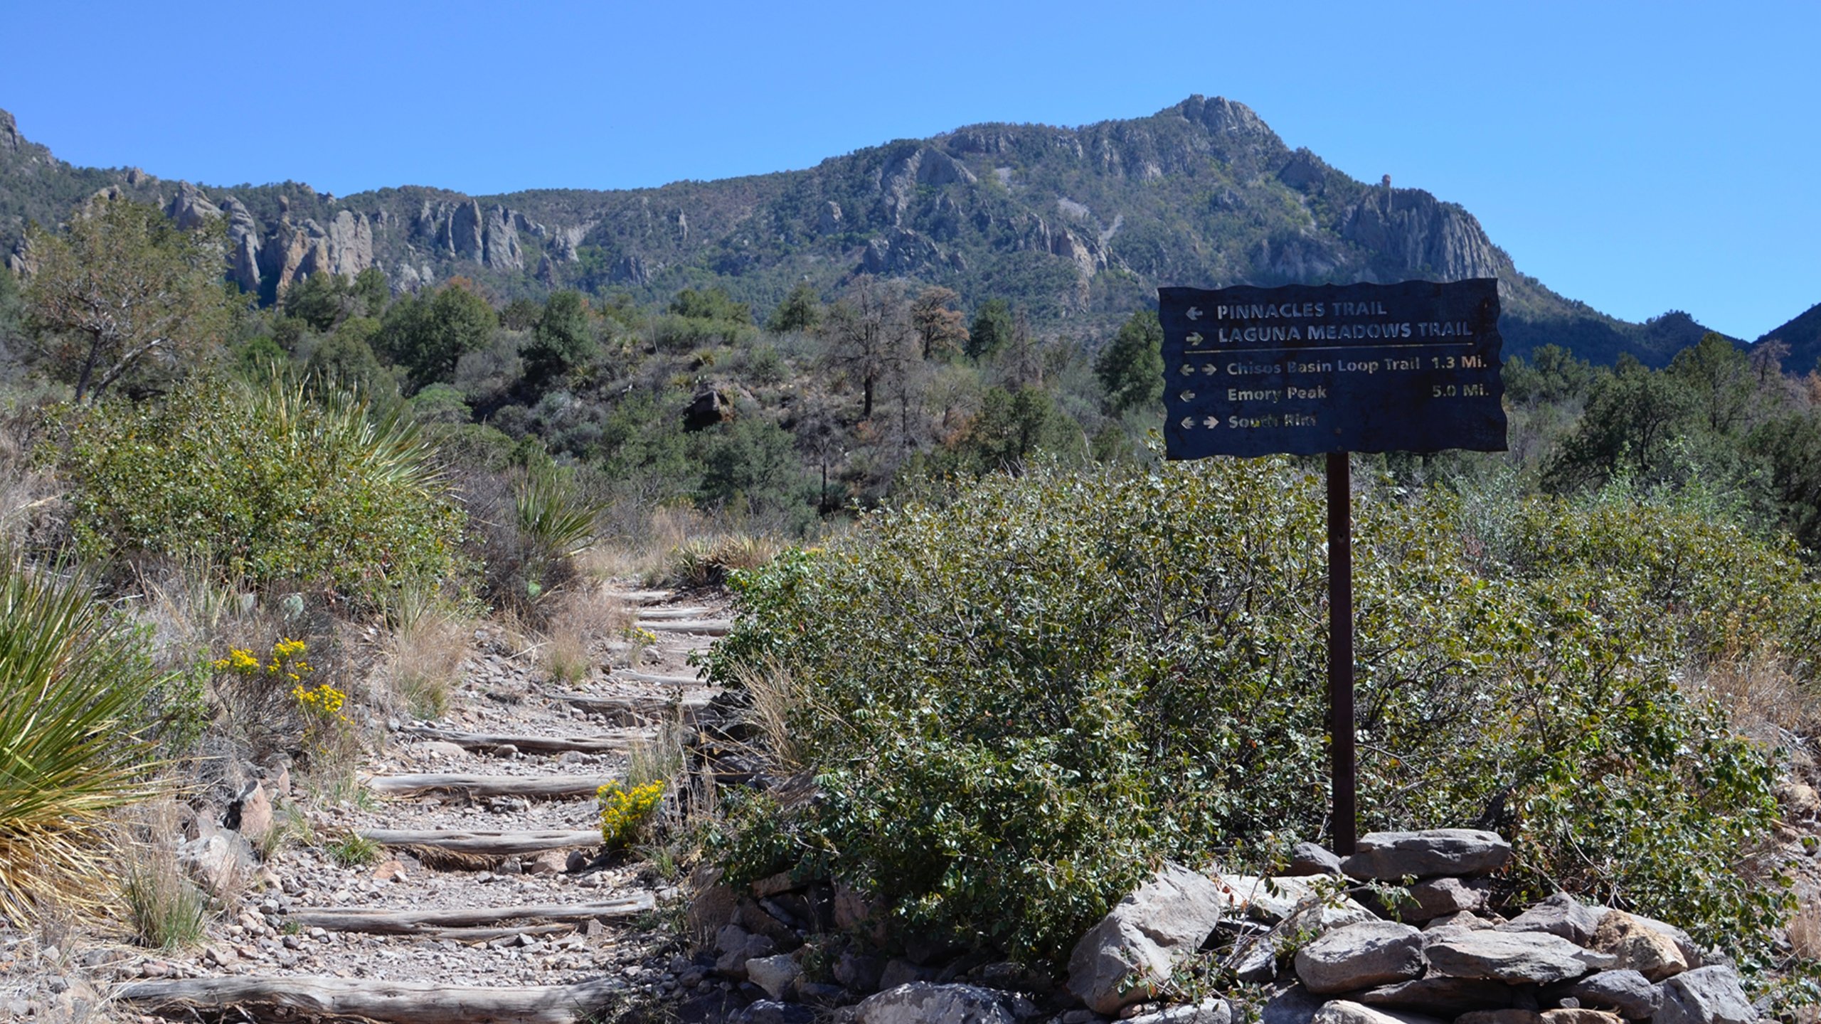
[[[300,182],[193,186],[75,168],[0,111],[0,251],[113,189],[180,222],[226,217],[229,277],[273,301],[308,273],[386,271],[393,288],[461,275],[499,299],[554,288],[668,299],[717,284],[763,315],[798,281],[860,271],[1003,295],[1033,321],[1096,332],[1160,284],[1499,277],[1508,353],[1557,343],[1661,366],[1704,328],[1686,313],[1608,317],[1519,273],[1471,213],[1358,182],[1287,148],[1244,104],[1187,100],[1083,128],[976,124],[801,171],[716,182],[470,197],[406,186],[333,197]]]

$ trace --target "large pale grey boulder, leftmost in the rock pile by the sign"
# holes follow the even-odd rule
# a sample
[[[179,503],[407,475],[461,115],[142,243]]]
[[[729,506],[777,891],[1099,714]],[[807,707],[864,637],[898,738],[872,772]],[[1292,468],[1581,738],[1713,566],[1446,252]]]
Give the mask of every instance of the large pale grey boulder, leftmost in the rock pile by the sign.
[[[1200,949],[1222,902],[1211,878],[1164,865],[1074,944],[1069,991],[1107,1015],[1151,998],[1176,962]]]

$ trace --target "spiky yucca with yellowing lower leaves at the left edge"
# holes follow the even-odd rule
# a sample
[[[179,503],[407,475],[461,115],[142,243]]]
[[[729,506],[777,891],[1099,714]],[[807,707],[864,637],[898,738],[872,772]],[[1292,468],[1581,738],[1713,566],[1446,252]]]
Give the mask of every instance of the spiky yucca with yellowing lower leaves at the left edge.
[[[0,915],[20,922],[107,891],[109,811],[151,793],[137,714],[164,676],[80,576],[4,574]]]

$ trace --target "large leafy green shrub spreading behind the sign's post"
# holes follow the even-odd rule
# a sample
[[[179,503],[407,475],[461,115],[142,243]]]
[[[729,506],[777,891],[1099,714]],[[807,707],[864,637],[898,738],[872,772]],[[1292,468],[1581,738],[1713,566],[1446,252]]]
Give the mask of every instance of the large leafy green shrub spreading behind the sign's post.
[[[1765,641],[1741,616],[1812,607],[1812,585],[1712,523],[1517,514],[1506,563],[1440,490],[1358,499],[1362,831],[1488,822],[1519,845],[1511,887],[1561,880],[1763,949],[1781,889],[1734,867],[1772,820],[1770,771],[1675,680],[1719,636]],[[1582,532],[1551,570],[1551,538]],[[1162,858],[1264,867],[1320,836],[1322,539],[1320,481],[1287,461],[1043,466],[736,574],[712,678],[790,672],[821,789],[792,813],[732,802],[736,878],[830,871],[914,927],[1058,962]],[[1701,558],[1626,554],[1652,541]],[[1610,572],[1577,568],[1601,550]],[[1659,629],[1670,567],[1715,601],[1688,629]],[[1763,585],[1724,599],[1739,578]]]

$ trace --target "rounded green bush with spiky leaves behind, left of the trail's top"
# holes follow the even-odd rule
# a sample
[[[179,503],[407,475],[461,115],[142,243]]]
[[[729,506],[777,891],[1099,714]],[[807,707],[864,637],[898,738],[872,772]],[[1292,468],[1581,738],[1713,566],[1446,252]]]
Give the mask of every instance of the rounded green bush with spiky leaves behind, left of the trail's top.
[[[428,445],[351,395],[198,379],[58,421],[75,538],[93,558],[198,559],[361,601],[453,570],[461,512]]]

